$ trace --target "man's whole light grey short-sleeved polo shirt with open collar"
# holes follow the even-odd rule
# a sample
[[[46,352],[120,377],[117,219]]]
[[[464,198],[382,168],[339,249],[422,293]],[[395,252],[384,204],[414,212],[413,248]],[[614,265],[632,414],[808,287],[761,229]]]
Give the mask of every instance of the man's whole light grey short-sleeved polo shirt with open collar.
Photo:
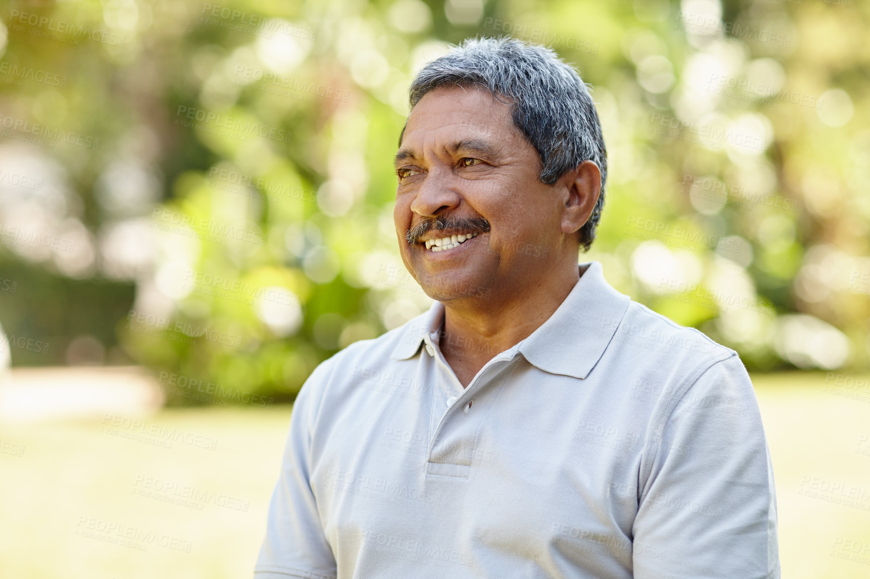
[[[256,579],[780,576],[736,352],[597,262],[465,389],[443,318],[435,302],[305,382]]]

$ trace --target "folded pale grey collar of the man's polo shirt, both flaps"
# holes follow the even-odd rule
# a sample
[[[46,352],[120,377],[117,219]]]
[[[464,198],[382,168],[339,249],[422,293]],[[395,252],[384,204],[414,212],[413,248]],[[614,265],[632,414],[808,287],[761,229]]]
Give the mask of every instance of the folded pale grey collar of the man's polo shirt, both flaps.
[[[551,374],[586,378],[598,363],[625,315],[629,296],[613,289],[599,262],[579,264],[586,273],[545,323],[519,343],[519,353]],[[417,354],[424,337],[444,320],[444,304],[432,307],[405,324],[402,341],[392,357],[405,360]]]

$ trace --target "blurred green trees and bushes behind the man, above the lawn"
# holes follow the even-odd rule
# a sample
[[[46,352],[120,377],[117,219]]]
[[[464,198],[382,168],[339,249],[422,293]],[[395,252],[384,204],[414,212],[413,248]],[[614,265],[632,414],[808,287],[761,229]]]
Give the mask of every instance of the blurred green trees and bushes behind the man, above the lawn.
[[[0,322],[53,346],[13,363],[142,363],[289,400],[325,357],[416,316],[431,300],[391,220],[407,87],[449,43],[508,34],[574,63],[599,106],[610,177],[581,260],[753,369],[864,368],[868,13],[10,3]]]

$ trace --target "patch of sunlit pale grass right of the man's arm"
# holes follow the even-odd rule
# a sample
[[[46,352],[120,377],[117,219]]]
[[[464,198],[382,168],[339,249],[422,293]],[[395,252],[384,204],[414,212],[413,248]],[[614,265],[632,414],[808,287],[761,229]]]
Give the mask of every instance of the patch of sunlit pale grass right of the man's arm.
[[[837,382],[826,373],[753,376],[789,579],[870,577],[870,391]]]

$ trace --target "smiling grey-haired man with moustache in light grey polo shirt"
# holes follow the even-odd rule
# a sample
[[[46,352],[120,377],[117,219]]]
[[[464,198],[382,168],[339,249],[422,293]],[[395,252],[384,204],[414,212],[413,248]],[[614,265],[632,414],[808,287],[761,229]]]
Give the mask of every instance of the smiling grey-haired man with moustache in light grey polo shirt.
[[[606,150],[577,73],[467,41],[411,104],[394,217],[436,301],[299,392],[255,576],[778,577],[740,358],[578,265]]]

